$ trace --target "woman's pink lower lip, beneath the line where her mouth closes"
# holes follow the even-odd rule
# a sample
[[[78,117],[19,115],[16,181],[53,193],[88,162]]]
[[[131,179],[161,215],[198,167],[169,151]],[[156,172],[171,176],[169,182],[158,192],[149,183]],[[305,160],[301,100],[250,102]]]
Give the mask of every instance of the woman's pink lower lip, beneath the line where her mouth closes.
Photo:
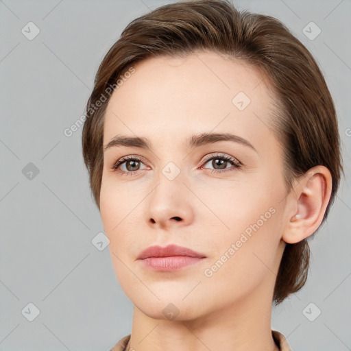
[[[195,265],[204,258],[190,256],[148,257],[142,259],[141,262],[145,267],[155,271],[175,271],[189,265]]]

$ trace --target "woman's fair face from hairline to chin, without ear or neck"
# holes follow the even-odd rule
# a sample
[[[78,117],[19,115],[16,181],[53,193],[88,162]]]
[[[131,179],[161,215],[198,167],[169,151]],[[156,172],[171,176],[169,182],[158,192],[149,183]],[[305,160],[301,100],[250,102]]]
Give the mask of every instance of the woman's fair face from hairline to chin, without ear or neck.
[[[250,299],[271,304],[287,193],[263,77],[212,52],[149,58],[134,69],[108,102],[104,146],[130,139],[104,151],[100,196],[123,291],[158,319]],[[149,148],[132,138],[147,138]],[[137,259],[169,244],[204,258],[174,270]]]

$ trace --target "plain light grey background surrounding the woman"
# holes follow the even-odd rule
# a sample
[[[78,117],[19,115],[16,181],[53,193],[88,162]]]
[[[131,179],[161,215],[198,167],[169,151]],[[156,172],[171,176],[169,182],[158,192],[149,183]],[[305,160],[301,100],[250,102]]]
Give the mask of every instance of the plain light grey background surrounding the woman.
[[[84,113],[99,63],[136,16],[175,1],[0,0],[0,350],[109,350],[132,326],[82,160]],[[272,312],[292,350],[351,350],[350,0],[234,1],[280,19],[313,53],[335,100],[346,180],[311,245],[304,288]],[[40,29],[28,40],[21,29]],[[311,21],[322,33],[308,39]],[[38,169],[32,179],[25,171]],[[27,168],[25,168],[27,167]],[[32,168],[31,168],[32,167]],[[21,313],[32,302],[40,314]],[[313,322],[304,308],[322,313]],[[316,313],[313,306],[311,313]],[[33,310],[32,310],[33,311]]]

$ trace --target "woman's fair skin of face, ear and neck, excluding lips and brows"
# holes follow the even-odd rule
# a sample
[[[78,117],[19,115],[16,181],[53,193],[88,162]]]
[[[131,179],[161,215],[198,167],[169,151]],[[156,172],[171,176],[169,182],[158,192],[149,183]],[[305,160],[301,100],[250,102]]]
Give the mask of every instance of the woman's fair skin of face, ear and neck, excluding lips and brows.
[[[117,134],[144,136],[152,150],[106,149],[100,196],[114,271],[134,304],[131,347],[278,350],[271,336],[271,301],[279,263],[285,243],[301,241],[322,222],[330,172],[310,169],[287,194],[282,145],[268,128],[272,97],[251,66],[202,51],[186,58],[148,58],[134,68],[108,102],[104,145]],[[251,100],[244,110],[232,104],[240,91]],[[257,152],[232,141],[186,147],[187,138],[205,132],[241,136]],[[216,158],[203,161],[218,153],[242,167],[230,162],[219,167]],[[120,165],[122,174],[112,166],[123,156],[142,160],[129,168],[127,162]],[[169,162],[180,170],[173,180],[162,173]],[[275,213],[206,276],[205,269],[269,208]],[[136,260],[146,247],[169,243],[206,258],[173,272],[152,271]],[[169,319],[162,313],[166,307],[178,314]]]

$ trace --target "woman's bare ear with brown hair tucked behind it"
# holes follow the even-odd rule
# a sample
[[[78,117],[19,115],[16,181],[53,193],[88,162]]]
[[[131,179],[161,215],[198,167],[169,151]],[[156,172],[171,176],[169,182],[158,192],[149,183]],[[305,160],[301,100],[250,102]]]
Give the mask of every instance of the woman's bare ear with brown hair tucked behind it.
[[[298,243],[319,228],[331,191],[332,176],[324,166],[313,167],[296,180],[287,199],[283,241]]]

